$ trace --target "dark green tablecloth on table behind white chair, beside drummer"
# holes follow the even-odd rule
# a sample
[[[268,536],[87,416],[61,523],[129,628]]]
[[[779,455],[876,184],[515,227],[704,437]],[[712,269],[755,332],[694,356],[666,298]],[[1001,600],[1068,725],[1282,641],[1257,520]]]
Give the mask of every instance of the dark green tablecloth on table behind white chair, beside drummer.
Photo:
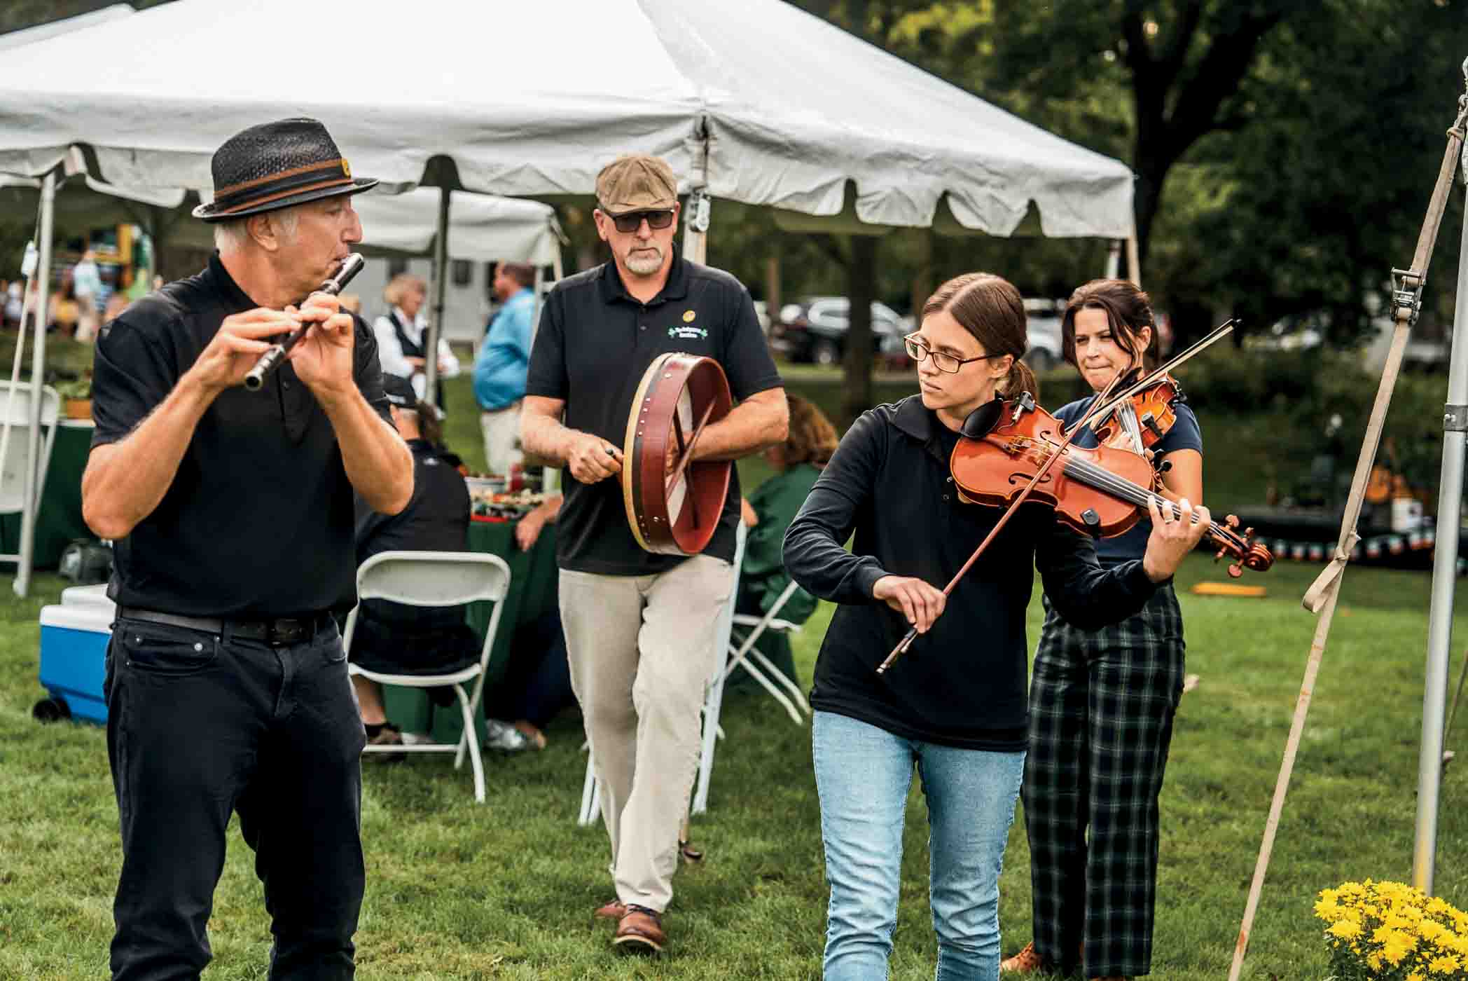
[[[515,545],[515,523],[470,521],[468,548],[471,552],[498,555],[509,565],[509,590],[505,593],[495,645],[489,652],[489,671],[484,681],[487,689],[505,676],[515,630],[555,605],[559,576],[555,564],[555,526],[548,524],[540,532],[534,546],[528,552],[521,552],[520,546]],[[493,604],[470,604],[468,623],[480,639],[489,629],[492,611]],[[388,718],[405,731],[430,731],[433,739],[440,743],[458,742],[464,731],[457,698],[448,706],[435,706],[429,703],[421,689],[389,687],[383,692],[383,701]],[[476,718],[480,725],[483,725],[483,715],[480,711],[479,718]],[[480,740],[483,740],[483,728],[480,728]]]

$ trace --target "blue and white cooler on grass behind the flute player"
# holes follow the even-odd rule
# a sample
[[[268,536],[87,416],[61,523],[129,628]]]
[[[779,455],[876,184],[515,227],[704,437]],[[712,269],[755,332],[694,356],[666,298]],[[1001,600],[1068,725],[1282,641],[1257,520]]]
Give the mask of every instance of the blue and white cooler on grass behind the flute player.
[[[31,709],[37,720],[107,721],[101,680],[115,615],[106,583],[63,589],[60,604],[41,608],[40,677],[50,698]]]

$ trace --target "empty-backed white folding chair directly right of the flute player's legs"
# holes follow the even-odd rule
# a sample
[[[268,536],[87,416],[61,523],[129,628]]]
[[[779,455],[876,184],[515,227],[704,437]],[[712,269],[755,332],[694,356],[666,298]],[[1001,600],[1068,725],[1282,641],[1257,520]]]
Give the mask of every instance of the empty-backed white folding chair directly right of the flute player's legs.
[[[479,730],[474,727],[474,712],[479,711],[484,693],[484,671],[489,667],[489,652],[495,646],[499,630],[499,614],[504,609],[505,592],[509,589],[509,567],[498,555],[482,552],[379,552],[357,570],[358,599],[390,599],[411,607],[459,607],[487,599],[495,604],[484,630],[484,645],[479,661],[448,674],[383,674],[368,671],[355,664],[346,665],[351,674],[360,674],[377,684],[399,684],[404,687],[452,687],[458,695],[459,711],[464,714],[464,734],[457,745],[413,743],[402,746],[367,746],[364,752],[393,753],[454,753],[454,768],[464,765],[464,750],[468,750],[474,768],[474,800],[484,803],[484,764],[479,753]],[[358,605],[346,617],[346,637],[342,640],[348,654],[352,649],[352,633],[357,629]],[[467,681],[474,681],[474,693],[464,690]]]

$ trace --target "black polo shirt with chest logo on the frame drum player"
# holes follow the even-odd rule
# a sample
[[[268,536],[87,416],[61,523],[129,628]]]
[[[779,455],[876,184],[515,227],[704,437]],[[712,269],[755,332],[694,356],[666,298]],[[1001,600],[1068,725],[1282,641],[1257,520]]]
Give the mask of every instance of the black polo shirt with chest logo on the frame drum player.
[[[781,385],[743,283],[675,257],[662,292],[646,304],[627,292],[615,263],[558,282],[536,332],[526,394],[564,399],[567,426],[621,448],[643,372],[659,354],[674,351],[718,361],[735,399]],[[646,576],[683,561],[637,545],[627,524],[621,480],[586,485],[564,470],[562,486],[565,502],[556,518],[561,568]],[[738,499],[735,470],[705,555],[734,560]]]

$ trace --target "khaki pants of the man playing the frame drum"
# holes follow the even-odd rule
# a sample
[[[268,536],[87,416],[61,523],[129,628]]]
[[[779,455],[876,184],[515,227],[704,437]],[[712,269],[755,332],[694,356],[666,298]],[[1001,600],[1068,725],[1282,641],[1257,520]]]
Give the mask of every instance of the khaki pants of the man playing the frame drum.
[[[586,717],[617,897],[662,912],[699,765],[699,709],[719,664],[730,564],[694,555],[658,576],[561,570],[571,687]]]

